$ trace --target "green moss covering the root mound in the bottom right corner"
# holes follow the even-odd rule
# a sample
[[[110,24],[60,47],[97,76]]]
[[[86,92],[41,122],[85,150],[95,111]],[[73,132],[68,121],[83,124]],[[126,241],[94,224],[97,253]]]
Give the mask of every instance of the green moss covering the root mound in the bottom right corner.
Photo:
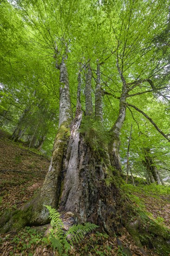
[[[153,219],[150,217],[150,213],[146,211],[144,201],[141,200],[134,192],[140,192],[147,195],[148,187],[151,187],[152,195],[162,195],[167,192],[167,188],[160,188],[159,186],[143,186],[133,187],[131,184],[121,185],[121,195],[124,198],[124,216],[123,223],[127,228],[134,241],[139,246],[146,245],[149,248],[154,248],[159,255],[168,256],[170,251],[170,240],[169,229],[164,226],[160,219]],[[133,229],[130,225],[134,220],[138,220],[140,225],[137,229]]]

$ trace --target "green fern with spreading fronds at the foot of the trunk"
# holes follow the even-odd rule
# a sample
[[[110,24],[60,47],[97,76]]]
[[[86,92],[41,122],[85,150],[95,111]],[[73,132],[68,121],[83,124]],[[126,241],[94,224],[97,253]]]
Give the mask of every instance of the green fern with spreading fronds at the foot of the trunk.
[[[45,205],[45,207],[49,211],[52,226],[52,229],[50,229],[49,240],[52,243],[53,248],[58,250],[59,255],[66,256],[68,251],[71,250],[70,244],[73,246],[73,243],[79,243],[85,237],[85,234],[98,228],[97,225],[86,222],[85,225],[73,225],[65,233],[64,224],[60,219],[59,212],[51,206]],[[63,253],[64,251],[66,254]]]

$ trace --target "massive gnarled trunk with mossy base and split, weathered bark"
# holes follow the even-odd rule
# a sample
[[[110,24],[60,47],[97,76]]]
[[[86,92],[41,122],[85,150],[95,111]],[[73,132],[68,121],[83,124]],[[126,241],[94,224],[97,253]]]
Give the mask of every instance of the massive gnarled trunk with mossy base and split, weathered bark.
[[[116,230],[119,223],[117,205],[119,193],[113,182],[112,168],[108,168],[110,162],[108,148],[105,147],[102,155],[100,152],[93,152],[79,132],[83,116],[80,103],[80,74],[78,74],[77,110],[75,118],[72,119],[66,59],[67,55],[64,54],[61,64],[57,65],[60,71],[59,131],[54,142],[49,170],[39,194],[14,214],[4,227],[6,231],[11,227],[17,229],[15,220],[19,214],[22,225],[40,225],[49,222],[48,210],[44,205],[50,205],[62,213],[72,212],[79,222],[98,223],[110,234]],[[86,111],[87,115],[91,115],[90,66],[86,86],[90,90],[87,92],[86,88]],[[101,102],[98,103],[101,106]],[[99,108],[99,112],[97,109],[96,113],[101,114],[102,109]]]

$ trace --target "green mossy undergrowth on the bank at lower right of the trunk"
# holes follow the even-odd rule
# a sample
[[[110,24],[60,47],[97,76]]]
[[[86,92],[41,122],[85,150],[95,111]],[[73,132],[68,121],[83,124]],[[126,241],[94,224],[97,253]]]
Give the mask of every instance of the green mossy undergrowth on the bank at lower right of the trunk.
[[[147,211],[145,207],[145,197],[160,199],[161,196],[167,195],[170,192],[169,187],[161,185],[150,184],[134,187],[131,184],[122,182],[121,194],[126,202],[126,221],[127,223],[134,223],[139,221],[138,228],[131,228],[127,223],[125,226],[130,228],[132,236],[138,236],[143,245],[155,248],[159,255],[168,255],[167,241],[170,239],[169,229],[163,223],[164,219],[161,216],[154,217],[152,213]],[[137,195],[142,195],[143,198]],[[133,224],[131,224],[133,225]],[[128,230],[129,231],[129,230]]]

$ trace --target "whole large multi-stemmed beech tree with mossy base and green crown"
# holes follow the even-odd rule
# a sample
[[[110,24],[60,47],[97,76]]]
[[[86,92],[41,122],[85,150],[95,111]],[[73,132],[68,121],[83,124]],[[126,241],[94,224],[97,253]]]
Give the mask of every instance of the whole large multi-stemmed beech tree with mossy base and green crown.
[[[162,97],[163,108],[167,101],[169,87],[159,79],[169,63],[154,40],[166,27],[168,2],[19,0],[13,10],[28,44],[55,70],[59,127],[42,188],[4,230],[46,224],[44,205],[50,205],[112,234],[126,212],[118,188],[124,125],[136,126],[136,111],[164,144],[170,141],[168,122],[152,119],[149,109],[149,101]],[[139,238],[137,244],[142,247]]]

